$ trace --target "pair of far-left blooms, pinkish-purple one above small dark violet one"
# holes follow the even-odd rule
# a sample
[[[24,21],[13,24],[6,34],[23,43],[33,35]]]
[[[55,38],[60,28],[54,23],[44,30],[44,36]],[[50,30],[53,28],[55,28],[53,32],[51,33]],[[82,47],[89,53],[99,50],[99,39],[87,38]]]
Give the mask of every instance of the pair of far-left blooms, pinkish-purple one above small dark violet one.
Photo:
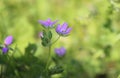
[[[5,38],[5,40],[4,40],[4,47],[2,48],[2,52],[3,53],[7,53],[8,52],[8,50],[9,50],[8,46],[10,44],[12,44],[12,42],[13,42],[13,37],[12,36],[7,36]]]

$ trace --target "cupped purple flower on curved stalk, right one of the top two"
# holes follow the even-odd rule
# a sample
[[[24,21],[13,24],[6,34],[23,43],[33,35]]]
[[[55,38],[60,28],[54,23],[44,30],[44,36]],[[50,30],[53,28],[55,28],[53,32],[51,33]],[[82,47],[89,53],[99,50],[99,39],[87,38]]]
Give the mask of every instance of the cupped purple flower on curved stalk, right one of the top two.
[[[62,36],[67,36],[71,30],[72,30],[72,28],[68,27],[67,23],[63,23],[62,25],[59,24],[56,27],[56,32]]]

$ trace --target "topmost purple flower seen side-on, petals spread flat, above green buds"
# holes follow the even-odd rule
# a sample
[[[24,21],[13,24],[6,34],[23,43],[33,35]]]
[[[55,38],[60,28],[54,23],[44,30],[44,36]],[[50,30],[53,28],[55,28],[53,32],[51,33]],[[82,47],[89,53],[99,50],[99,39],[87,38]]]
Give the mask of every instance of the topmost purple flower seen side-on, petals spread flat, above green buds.
[[[39,22],[41,25],[43,25],[45,28],[52,28],[53,25],[57,22],[57,20],[51,21],[51,19],[48,18],[47,20],[39,20],[38,22]]]

